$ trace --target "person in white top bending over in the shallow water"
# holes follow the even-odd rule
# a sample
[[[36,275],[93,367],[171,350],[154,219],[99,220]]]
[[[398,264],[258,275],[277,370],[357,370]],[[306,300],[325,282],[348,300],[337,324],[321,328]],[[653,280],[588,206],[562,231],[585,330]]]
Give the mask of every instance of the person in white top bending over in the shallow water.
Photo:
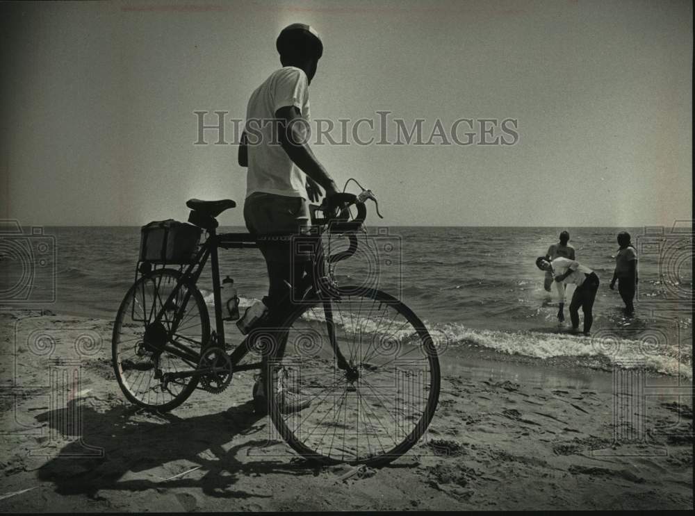
[[[572,295],[572,301],[569,303],[572,331],[579,330],[579,307],[581,306],[584,313],[584,335],[588,336],[591,331],[591,324],[594,322],[592,309],[594,308],[594,300],[598,290],[598,276],[596,272],[578,261],[562,256],[555,258],[553,261],[546,260],[545,256],[539,256],[536,260],[536,266],[541,271],[550,272],[555,278],[555,288],[557,288],[557,297],[560,304],[557,312],[559,322],[564,321],[564,286],[566,283],[577,285]]]

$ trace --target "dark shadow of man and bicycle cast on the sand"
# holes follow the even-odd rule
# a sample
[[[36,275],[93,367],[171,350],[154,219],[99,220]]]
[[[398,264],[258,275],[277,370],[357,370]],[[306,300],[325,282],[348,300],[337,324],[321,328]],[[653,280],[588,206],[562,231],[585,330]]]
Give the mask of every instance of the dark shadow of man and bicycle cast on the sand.
[[[100,490],[197,488],[212,497],[271,497],[234,485],[247,476],[316,474],[318,468],[294,456],[283,441],[270,439],[272,424],[253,413],[251,402],[183,419],[131,406],[101,412],[79,403],[76,411],[78,401],[85,400],[36,416],[49,422],[54,434],[72,439],[37,471],[58,494],[94,498]]]

